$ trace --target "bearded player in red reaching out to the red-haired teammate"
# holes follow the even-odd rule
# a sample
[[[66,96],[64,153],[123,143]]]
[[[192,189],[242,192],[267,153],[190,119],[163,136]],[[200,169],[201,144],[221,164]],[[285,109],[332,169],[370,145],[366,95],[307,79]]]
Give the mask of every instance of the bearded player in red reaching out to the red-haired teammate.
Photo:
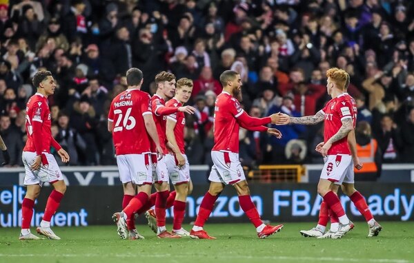
[[[240,74],[233,70],[226,70],[220,76],[223,92],[217,96],[214,116],[215,145],[211,151],[213,167],[210,176],[210,188],[201,201],[199,213],[191,238],[215,239],[204,231],[204,223],[210,216],[215,201],[226,185],[233,185],[239,196],[239,204],[249,220],[255,225],[257,236],[267,238],[281,230],[283,225],[275,227],[265,225],[260,219],[259,212],[250,198],[250,191],[244,176],[244,171],[239,160],[239,127],[250,131],[266,131],[268,134],[281,138],[282,134],[277,129],[262,126],[269,123],[284,121],[284,116],[273,114],[266,118],[253,118],[248,116],[237,101],[241,94],[242,79]]]

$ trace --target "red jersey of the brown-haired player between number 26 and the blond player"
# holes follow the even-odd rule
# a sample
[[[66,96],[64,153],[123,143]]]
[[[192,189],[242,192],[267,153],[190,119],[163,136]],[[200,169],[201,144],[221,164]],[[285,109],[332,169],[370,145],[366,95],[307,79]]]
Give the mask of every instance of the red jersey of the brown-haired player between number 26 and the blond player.
[[[157,94],[154,94],[151,98],[152,116],[154,117],[155,126],[157,126],[157,133],[159,138],[159,145],[163,151],[163,154],[168,154],[166,147],[166,127],[167,127],[167,116],[157,114],[157,110],[161,107],[166,107],[166,101]],[[151,151],[157,152],[155,149],[155,143],[151,140]]]

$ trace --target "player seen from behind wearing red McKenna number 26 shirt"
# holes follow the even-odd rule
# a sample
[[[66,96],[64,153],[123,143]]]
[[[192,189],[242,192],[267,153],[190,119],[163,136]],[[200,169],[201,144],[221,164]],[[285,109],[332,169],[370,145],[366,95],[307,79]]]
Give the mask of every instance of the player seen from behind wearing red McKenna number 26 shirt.
[[[141,91],[143,81],[141,70],[130,68],[126,72],[128,89],[112,100],[108,113],[108,131],[112,132],[124,187],[123,210],[114,213],[112,219],[117,223],[119,236],[131,240],[144,238],[135,229],[134,213],[144,207],[151,193],[150,138],[159,156],[163,154],[152,119],[150,95]]]

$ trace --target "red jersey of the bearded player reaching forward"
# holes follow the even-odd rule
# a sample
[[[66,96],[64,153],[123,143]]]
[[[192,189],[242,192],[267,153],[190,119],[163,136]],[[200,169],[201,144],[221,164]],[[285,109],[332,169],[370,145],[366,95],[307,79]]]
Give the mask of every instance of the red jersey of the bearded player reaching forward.
[[[239,123],[236,118],[244,109],[239,101],[228,92],[221,92],[214,108],[214,147],[213,151],[239,152]]]

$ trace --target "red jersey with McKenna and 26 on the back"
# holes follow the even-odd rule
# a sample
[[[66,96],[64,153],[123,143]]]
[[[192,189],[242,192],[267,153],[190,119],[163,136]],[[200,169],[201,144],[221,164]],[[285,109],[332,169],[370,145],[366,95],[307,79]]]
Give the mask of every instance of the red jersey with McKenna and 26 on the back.
[[[117,155],[150,152],[144,115],[152,114],[150,95],[138,89],[126,90],[110,103],[108,121],[113,123],[112,139]]]

